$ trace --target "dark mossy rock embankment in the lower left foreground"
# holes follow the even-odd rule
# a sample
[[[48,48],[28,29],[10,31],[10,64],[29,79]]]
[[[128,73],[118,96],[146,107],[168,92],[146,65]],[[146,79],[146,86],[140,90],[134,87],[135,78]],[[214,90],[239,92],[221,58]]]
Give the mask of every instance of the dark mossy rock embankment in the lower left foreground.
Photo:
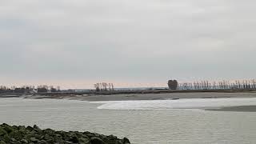
[[[41,130],[38,126],[0,125],[0,144],[130,144],[127,138],[78,131]]]

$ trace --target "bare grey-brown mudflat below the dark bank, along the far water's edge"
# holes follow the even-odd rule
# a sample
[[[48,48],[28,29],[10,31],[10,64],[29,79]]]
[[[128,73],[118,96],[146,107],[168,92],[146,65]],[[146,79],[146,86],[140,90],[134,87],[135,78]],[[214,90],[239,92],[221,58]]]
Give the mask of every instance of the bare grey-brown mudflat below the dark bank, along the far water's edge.
[[[26,96],[26,98],[57,98],[81,101],[132,101],[167,100],[182,98],[256,98],[256,93],[168,93],[168,94],[113,94],[113,95],[51,95]]]

